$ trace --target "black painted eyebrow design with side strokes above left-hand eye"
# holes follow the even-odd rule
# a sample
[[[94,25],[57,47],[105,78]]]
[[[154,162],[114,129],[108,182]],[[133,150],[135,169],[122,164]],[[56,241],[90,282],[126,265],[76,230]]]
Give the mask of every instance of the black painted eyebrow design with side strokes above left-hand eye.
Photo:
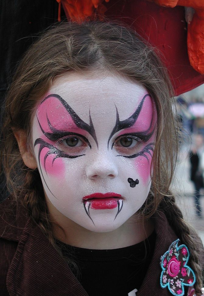
[[[86,122],[84,122],[77,114],[76,112],[69,106],[69,104],[67,104],[67,102],[62,99],[62,97],[60,97],[59,95],[57,94],[51,94],[51,95],[48,95],[46,98],[44,98],[44,100],[40,103],[40,105],[45,101],[47,100],[48,98],[50,97],[54,97],[56,99],[58,99],[62,105],[65,107],[65,109],[67,110],[67,112],[71,115],[74,123],[76,124],[77,127],[81,128],[82,130],[86,130],[92,137],[93,139],[95,140],[96,144],[97,144],[97,147],[98,147],[98,141],[97,141],[97,137],[96,137],[96,132],[95,132],[95,129],[93,127],[93,122],[92,122],[92,119],[91,119],[91,115],[90,115],[90,111],[89,111],[89,120],[90,120],[90,124],[87,124]],[[46,114],[47,115],[47,114]],[[38,118],[37,118],[38,120]],[[65,136],[68,136],[70,135],[70,132],[67,132],[67,131],[64,131],[64,130],[58,130],[58,129],[55,129],[52,125],[51,125],[51,122],[49,121],[48,119],[48,116],[47,116],[47,124],[50,128],[50,130],[53,132],[53,133],[47,133],[43,130],[42,126],[40,125],[40,122],[38,120],[38,123],[39,123],[39,126],[40,126],[40,129],[41,131],[44,133],[44,135],[51,141],[56,141],[58,139],[60,139],[61,137],[65,137]]]

